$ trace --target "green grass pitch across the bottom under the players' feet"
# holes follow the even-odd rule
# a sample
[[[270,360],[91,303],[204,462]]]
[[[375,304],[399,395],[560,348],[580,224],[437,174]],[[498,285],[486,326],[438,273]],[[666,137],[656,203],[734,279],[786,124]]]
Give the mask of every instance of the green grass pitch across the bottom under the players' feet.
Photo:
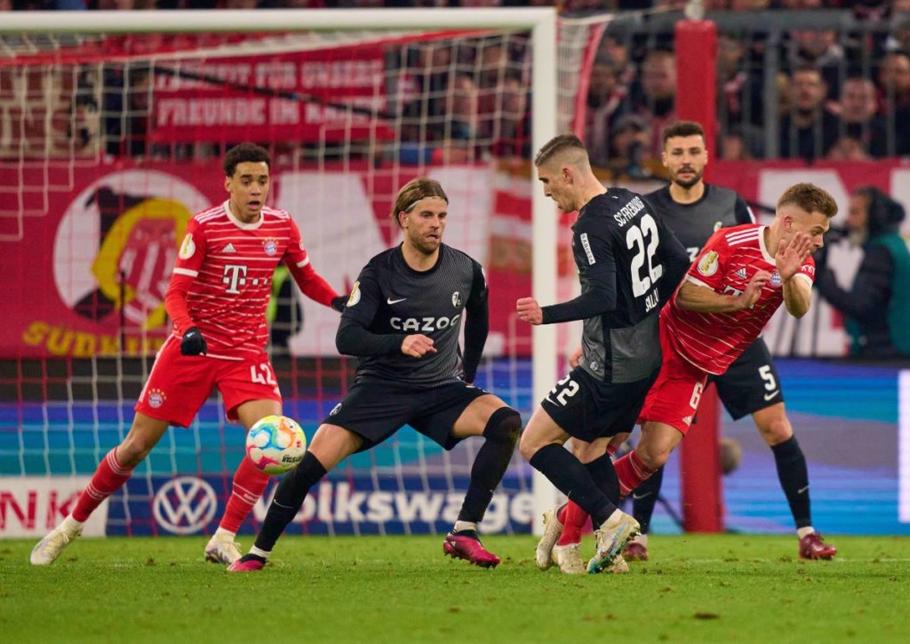
[[[828,540],[807,562],[795,537],[655,536],[651,561],[590,576],[541,572],[531,537],[484,538],[489,570],[440,537],[286,537],[249,574],[204,563],[204,538],[79,539],[47,568],[5,540],[0,641],[910,641],[910,538]]]

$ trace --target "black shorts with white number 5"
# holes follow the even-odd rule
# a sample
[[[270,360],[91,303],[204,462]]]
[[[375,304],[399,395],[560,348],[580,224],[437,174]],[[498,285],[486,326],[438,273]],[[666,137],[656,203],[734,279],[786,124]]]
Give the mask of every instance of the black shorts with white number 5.
[[[733,360],[723,376],[709,377],[708,382],[717,386],[717,395],[733,420],[784,402],[781,378],[761,337]]]

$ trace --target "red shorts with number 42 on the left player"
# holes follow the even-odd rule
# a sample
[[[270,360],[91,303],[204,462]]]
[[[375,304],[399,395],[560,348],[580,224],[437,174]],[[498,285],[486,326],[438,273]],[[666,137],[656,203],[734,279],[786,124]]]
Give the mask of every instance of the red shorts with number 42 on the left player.
[[[224,399],[228,420],[237,420],[237,408],[248,400],[281,402],[275,370],[264,351],[258,359],[248,360],[183,356],[180,341],[171,336],[158,351],[134,409],[186,428],[215,387]]]

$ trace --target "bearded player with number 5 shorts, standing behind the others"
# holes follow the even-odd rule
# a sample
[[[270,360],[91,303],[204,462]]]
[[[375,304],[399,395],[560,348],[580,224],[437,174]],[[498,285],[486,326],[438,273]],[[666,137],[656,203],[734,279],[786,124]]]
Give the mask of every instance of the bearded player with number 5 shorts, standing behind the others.
[[[662,160],[671,183],[647,195],[647,199],[694,259],[718,228],[753,224],[754,217],[733,190],[704,183],[708,153],[701,125],[681,121],[667,127],[662,137]],[[723,376],[711,377],[709,382],[717,386],[723,406],[734,420],[752,415],[755,427],[771,448],[777,477],[796,524],[800,558],[833,558],[837,550],[824,543],[812,527],[805,456],[784,411],[781,381],[764,340],[755,340]],[[661,468],[632,492],[632,512],[641,522],[643,534],[626,548],[627,559],[648,558],[648,525],[662,478]]]

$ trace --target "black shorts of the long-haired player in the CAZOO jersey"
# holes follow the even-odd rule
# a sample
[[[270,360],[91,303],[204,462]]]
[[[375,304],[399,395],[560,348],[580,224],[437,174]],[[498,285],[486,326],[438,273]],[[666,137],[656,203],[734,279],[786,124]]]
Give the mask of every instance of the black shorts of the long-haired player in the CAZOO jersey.
[[[436,387],[357,380],[322,422],[363,438],[359,451],[379,445],[404,425],[451,449],[461,440],[451,436],[461,412],[477,398],[488,395],[489,391],[458,380]]]

